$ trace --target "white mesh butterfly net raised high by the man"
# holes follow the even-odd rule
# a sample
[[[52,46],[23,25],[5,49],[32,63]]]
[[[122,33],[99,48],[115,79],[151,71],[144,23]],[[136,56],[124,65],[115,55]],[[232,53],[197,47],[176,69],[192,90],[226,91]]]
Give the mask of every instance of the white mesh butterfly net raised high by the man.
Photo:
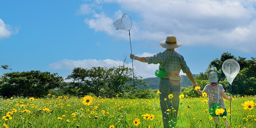
[[[122,18],[116,20],[113,25],[115,26],[116,30],[121,29],[121,30],[126,30],[129,31],[131,30],[132,26],[132,20],[130,15],[124,14]]]

